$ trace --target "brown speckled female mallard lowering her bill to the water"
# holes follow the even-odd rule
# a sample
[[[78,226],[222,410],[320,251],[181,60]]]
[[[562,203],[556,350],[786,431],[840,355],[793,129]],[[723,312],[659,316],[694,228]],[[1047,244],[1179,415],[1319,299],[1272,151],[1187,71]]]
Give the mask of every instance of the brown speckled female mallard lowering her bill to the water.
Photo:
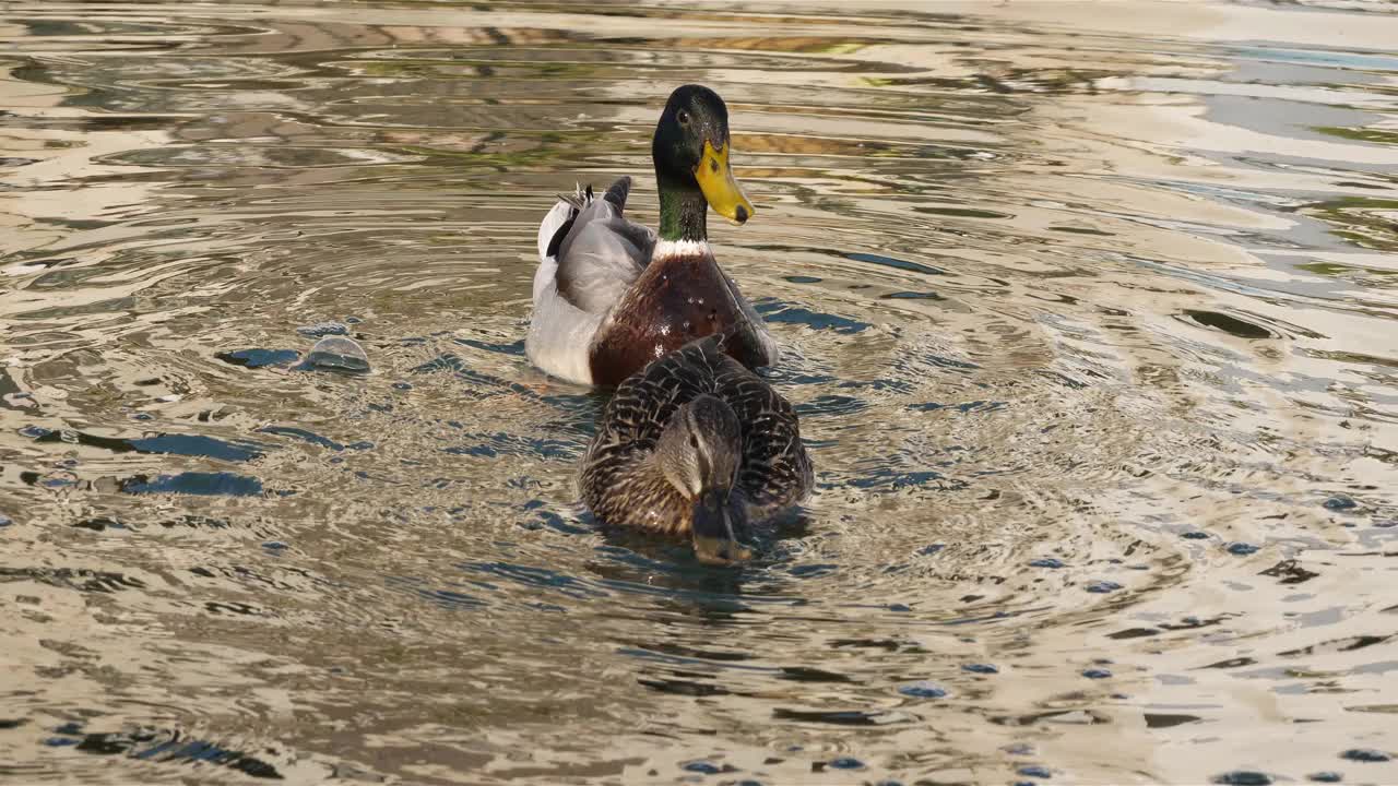
[[[747,559],[749,522],[811,491],[795,413],[709,336],[628,378],[583,457],[583,501],[614,526],[688,534],[700,561]]]

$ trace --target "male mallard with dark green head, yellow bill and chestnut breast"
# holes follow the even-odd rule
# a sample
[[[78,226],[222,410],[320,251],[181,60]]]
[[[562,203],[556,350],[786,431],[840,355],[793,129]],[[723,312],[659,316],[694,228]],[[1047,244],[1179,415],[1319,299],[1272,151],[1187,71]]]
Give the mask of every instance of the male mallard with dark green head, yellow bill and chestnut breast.
[[[650,144],[660,186],[660,235],[622,217],[630,178],[603,199],[561,197],[538,228],[534,315],[524,348],[545,372],[617,385],[693,338],[724,333],[749,368],[777,345],[709,250],[707,210],[752,215],[728,166],[728,108],[685,85],[670,95]]]

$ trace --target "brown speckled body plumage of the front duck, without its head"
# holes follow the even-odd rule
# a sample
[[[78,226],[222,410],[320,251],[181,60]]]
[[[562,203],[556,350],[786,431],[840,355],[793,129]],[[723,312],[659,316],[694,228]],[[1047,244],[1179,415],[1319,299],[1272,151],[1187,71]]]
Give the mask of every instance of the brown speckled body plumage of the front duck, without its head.
[[[795,413],[762,378],[724,354],[716,336],[693,341],[632,375],[612,394],[583,457],[583,501],[601,520],[651,531],[689,533],[692,503],[651,460],[675,410],[700,393],[717,396],[742,424],[733,494],[761,522],[800,502],[814,477]]]

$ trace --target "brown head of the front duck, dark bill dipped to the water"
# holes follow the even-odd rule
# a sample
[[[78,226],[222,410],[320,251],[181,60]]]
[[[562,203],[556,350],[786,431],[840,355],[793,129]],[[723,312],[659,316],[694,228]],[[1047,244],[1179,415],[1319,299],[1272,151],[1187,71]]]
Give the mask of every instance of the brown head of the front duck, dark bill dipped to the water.
[[[665,480],[692,506],[695,555],[712,564],[751,558],[741,541],[745,510],[733,499],[742,457],[742,427],[733,407],[709,394],[681,404],[660,432],[656,457]]]

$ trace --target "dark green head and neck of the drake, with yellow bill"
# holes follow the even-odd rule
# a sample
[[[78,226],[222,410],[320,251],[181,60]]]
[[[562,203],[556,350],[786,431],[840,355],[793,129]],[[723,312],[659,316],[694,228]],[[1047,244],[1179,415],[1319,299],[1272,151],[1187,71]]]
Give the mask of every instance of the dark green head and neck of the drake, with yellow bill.
[[[670,94],[650,157],[660,185],[663,239],[706,239],[707,207],[738,224],[752,217],[752,203],[728,165],[728,108],[717,92],[684,85]]]

